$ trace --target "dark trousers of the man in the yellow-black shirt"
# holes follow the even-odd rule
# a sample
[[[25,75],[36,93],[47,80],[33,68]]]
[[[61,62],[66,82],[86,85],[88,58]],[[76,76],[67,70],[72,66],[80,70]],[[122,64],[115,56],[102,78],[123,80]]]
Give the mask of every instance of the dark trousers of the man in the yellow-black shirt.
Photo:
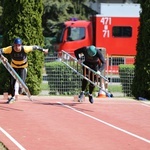
[[[20,78],[25,83],[26,76],[27,76],[27,68],[13,68],[13,69],[17,72],[17,74],[20,76]],[[13,76],[11,76],[11,78],[10,78],[10,94],[12,97],[15,96],[15,83],[16,83],[16,80],[14,79]]]

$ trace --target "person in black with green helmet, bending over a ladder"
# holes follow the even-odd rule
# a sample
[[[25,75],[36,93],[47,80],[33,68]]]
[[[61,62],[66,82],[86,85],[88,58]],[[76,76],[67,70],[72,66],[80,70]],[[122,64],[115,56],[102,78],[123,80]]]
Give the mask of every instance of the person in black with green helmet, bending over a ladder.
[[[101,72],[104,70],[106,62],[105,62],[105,58],[101,53],[101,50],[97,49],[95,46],[91,45],[88,47],[82,47],[79,48],[77,50],[74,51],[74,54],[78,60],[78,63],[81,64],[82,63],[82,59],[79,57],[80,54],[83,54],[84,56],[84,61],[83,64],[85,64],[86,66],[90,67],[91,69],[93,69],[94,71],[97,72],[97,74],[101,74]],[[88,77],[88,70],[84,69],[83,67],[83,75],[85,75]],[[95,76],[95,75],[94,75]],[[90,77],[88,77],[91,81],[93,80],[93,73],[90,73]],[[95,82],[95,78],[94,81]],[[80,92],[79,95],[79,102],[82,102],[83,97],[84,97],[84,93],[85,93],[85,89],[86,86],[88,84],[88,81],[86,79],[82,79],[82,91]],[[90,83],[89,84],[89,102],[93,103],[93,96],[92,93],[94,91],[95,86]]]

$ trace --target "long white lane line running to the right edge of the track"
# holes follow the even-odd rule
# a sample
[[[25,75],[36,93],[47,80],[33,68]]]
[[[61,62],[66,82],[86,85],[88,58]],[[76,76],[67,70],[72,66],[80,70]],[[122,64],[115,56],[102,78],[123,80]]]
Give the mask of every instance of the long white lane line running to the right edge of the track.
[[[69,108],[69,109],[72,109],[73,111],[78,112],[78,113],[80,113],[80,114],[82,114],[82,115],[84,115],[84,116],[87,116],[87,117],[92,118],[92,119],[94,119],[94,120],[96,120],[96,121],[98,121],[98,122],[101,122],[101,123],[103,123],[103,124],[105,124],[105,125],[107,125],[107,126],[110,126],[110,127],[112,127],[112,128],[115,128],[115,129],[117,129],[117,130],[119,130],[119,131],[121,131],[121,132],[124,132],[124,133],[126,133],[126,134],[129,134],[129,135],[131,135],[131,136],[133,136],[133,137],[135,137],[135,138],[138,138],[138,139],[140,139],[140,140],[142,140],[142,141],[144,141],[144,142],[150,143],[150,140],[148,140],[148,139],[145,139],[145,138],[143,138],[143,137],[141,137],[141,136],[138,136],[138,135],[133,134],[133,133],[131,133],[131,132],[129,132],[129,131],[126,131],[126,130],[124,130],[124,129],[121,129],[121,128],[117,127],[117,126],[114,126],[114,125],[112,125],[112,124],[110,124],[110,123],[107,123],[107,122],[105,122],[105,121],[103,121],[103,120],[100,120],[100,119],[98,119],[98,118],[96,118],[96,117],[93,117],[93,116],[91,116],[91,115],[88,115],[88,114],[86,114],[86,113],[84,113],[84,112],[81,112],[81,111],[79,111],[79,110],[77,110],[77,109],[75,109],[75,108],[73,108],[73,107],[70,107],[70,106],[68,106],[68,105],[65,105],[65,104],[63,104],[63,103],[61,103],[61,102],[57,102],[57,103],[59,103],[60,105],[62,105],[62,106],[64,106],[64,107],[67,107],[67,108]]]

